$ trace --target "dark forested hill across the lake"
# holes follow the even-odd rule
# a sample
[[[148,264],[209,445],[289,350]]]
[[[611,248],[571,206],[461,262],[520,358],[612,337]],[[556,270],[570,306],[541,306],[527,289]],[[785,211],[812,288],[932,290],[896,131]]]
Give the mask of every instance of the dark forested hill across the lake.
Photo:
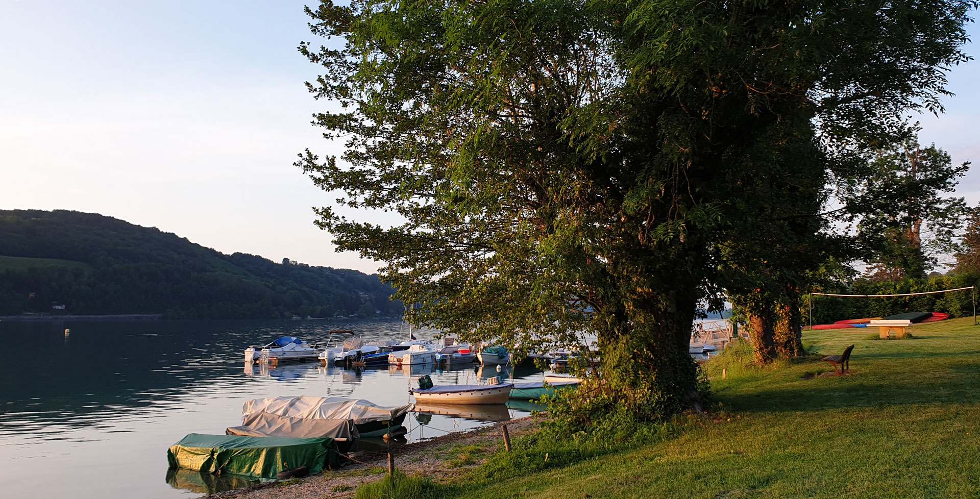
[[[376,274],[224,255],[98,214],[0,210],[0,315],[399,315],[391,293]]]

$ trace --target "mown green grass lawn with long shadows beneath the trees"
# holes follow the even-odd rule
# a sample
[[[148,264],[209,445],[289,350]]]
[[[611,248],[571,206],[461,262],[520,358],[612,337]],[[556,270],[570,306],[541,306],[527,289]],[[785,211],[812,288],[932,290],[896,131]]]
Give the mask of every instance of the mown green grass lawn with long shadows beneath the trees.
[[[980,497],[980,326],[909,331],[902,340],[807,331],[810,359],[764,370],[712,361],[722,417],[692,417],[682,435],[633,451],[463,486],[458,497]],[[852,375],[807,377],[830,372],[819,358],[852,343]]]

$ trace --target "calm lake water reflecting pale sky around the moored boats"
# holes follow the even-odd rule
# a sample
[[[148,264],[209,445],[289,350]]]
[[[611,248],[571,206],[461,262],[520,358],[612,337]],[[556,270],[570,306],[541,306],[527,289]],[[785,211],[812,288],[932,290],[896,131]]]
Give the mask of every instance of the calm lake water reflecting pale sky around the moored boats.
[[[195,497],[208,490],[167,481],[168,447],[187,433],[224,434],[241,424],[247,400],[313,395],[401,405],[411,402],[409,387],[422,374],[436,384],[475,384],[497,375],[478,364],[413,366],[410,372],[244,362],[250,344],[295,335],[323,345],[327,331],[336,328],[359,332],[366,341],[408,333],[398,320],[0,322],[2,496]],[[433,332],[415,334],[428,338]],[[333,343],[343,339],[334,336]],[[503,374],[523,380],[544,375],[533,368]],[[525,416],[532,408],[509,405],[470,414],[410,413],[408,441]]]

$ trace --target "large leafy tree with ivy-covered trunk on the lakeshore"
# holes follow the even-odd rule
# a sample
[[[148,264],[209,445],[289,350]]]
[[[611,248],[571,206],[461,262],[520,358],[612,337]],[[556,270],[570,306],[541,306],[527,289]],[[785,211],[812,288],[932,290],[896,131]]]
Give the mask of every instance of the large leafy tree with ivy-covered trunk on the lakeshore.
[[[319,210],[415,321],[523,349],[594,335],[591,403],[664,417],[700,406],[688,339],[750,180],[780,162],[809,186],[937,108],[971,5],[322,0],[314,32],[342,44],[301,50],[347,152],[298,165],[401,218]]]

